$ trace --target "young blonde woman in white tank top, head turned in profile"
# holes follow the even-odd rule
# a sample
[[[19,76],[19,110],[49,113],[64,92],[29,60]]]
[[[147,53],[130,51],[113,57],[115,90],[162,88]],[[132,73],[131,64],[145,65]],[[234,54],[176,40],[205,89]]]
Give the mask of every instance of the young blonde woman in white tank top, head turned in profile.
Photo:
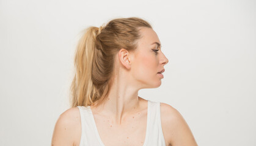
[[[59,116],[52,145],[197,145],[177,109],[138,96],[161,85],[167,63],[143,19],[89,27],[75,54],[71,108]]]

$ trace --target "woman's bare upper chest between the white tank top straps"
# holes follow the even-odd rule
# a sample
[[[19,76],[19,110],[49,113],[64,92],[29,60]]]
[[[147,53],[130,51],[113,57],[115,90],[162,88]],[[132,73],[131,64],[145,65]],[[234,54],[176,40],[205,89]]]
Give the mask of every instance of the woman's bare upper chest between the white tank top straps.
[[[122,124],[115,124],[106,117],[94,115],[98,135],[104,146],[144,145],[147,135],[147,111],[125,118]]]

